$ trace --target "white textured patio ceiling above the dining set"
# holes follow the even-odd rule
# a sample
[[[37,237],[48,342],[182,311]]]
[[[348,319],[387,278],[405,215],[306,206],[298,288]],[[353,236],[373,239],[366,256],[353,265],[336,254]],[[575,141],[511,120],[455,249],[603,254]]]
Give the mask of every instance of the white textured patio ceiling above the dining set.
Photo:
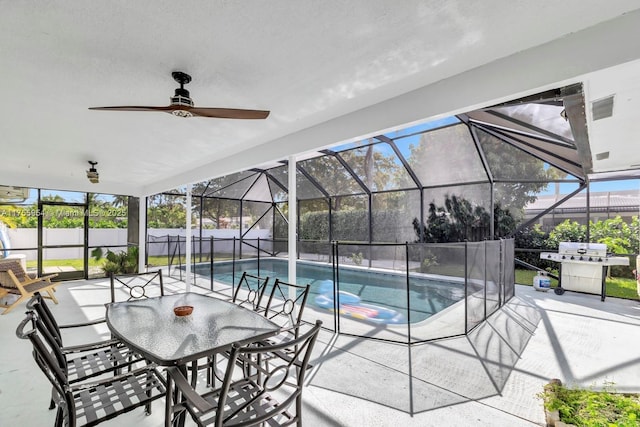
[[[594,171],[640,165],[637,0],[3,1],[0,184],[148,195],[583,82]],[[266,120],[90,111],[169,104]],[[589,105],[587,103],[587,105]],[[100,183],[86,179],[98,161]],[[635,166],[633,166],[635,165]]]

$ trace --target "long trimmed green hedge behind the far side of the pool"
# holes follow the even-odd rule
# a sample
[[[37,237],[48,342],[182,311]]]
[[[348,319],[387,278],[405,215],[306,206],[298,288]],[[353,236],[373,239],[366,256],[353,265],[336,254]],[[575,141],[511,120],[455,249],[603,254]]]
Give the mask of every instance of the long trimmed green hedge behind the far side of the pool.
[[[333,235],[329,236],[329,211],[307,212],[300,217],[301,240],[369,241],[369,212],[333,212]],[[373,242],[414,242],[413,217],[399,210],[374,211],[371,215]]]

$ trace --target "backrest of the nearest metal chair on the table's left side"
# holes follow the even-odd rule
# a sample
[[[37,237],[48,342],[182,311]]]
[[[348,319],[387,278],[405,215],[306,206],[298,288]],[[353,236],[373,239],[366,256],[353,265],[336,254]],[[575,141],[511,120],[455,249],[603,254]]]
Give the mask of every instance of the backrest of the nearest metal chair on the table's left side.
[[[65,357],[62,355],[60,347],[55,344],[52,337],[47,337],[46,329],[43,329],[43,325],[38,322],[37,314],[33,311],[28,311],[24,320],[18,325],[16,335],[18,338],[31,341],[33,358],[53,386],[54,393],[52,398],[59,406],[64,405],[66,412],[69,413],[68,411],[73,408],[73,396],[67,391],[68,380],[64,366],[64,363],[66,363]],[[41,334],[44,335],[44,340],[41,338]]]

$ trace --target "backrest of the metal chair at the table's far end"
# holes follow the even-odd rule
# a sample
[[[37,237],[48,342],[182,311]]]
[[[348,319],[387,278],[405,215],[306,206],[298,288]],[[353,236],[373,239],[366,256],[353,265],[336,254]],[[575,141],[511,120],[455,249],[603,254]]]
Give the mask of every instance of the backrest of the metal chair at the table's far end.
[[[139,274],[109,274],[111,302],[131,301],[164,295],[162,270]]]

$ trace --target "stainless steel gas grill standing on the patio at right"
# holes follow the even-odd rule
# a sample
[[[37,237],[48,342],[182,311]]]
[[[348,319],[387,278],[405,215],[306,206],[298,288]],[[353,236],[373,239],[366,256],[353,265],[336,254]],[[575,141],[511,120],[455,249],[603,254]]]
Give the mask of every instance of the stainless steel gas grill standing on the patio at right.
[[[540,259],[560,263],[560,283],[556,294],[564,290],[600,294],[604,301],[607,267],[629,265],[629,258],[611,256],[603,243],[561,242],[558,252],[542,252]]]

